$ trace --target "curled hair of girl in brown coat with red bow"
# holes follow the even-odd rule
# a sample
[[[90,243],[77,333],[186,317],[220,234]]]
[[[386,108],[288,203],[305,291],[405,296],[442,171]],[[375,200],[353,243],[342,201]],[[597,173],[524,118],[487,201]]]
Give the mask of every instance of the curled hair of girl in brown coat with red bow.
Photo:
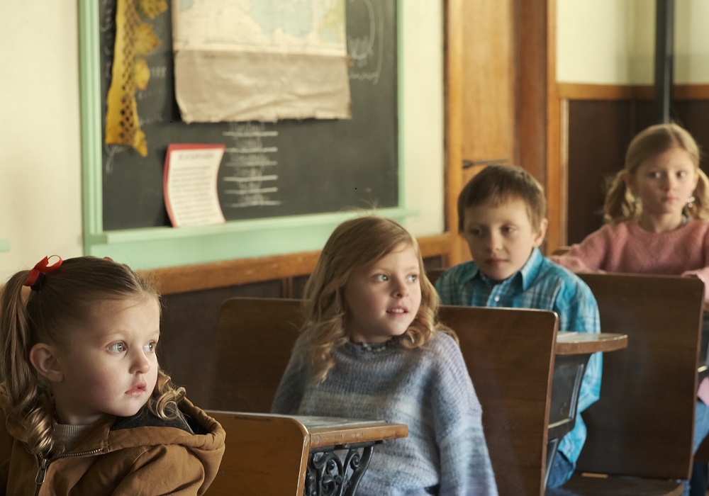
[[[160,296],[128,266],[109,259],[77,257],[43,276],[37,291],[23,298],[30,271],[13,275],[2,291],[0,308],[0,375],[9,399],[9,416],[28,429],[30,453],[46,454],[54,445],[52,419],[55,405],[49,384],[30,363],[30,349],[40,342],[69,346],[66,333],[91,316],[101,301]],[[184,388],[175,388],[164,371],[147,406],[162,419],[179,417],[177,403]]]

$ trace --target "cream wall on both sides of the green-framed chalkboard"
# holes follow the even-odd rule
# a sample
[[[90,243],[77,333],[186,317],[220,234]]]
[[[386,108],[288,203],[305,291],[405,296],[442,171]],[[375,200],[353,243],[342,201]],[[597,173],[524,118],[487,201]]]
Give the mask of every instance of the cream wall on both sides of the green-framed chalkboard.
[[[0,2],[0,282],[82,254],[76,2]],[[415,235],[443,229],[442,2],[399,3],[401,154]],[[9,244],[9,250],[4,249]]]

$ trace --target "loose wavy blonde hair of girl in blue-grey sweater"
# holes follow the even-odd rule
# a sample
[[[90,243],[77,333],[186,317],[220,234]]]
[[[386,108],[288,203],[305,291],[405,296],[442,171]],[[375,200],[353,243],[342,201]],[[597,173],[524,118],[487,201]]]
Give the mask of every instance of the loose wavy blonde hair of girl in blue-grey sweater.
[[[325,380],[335,366],[335,350],[349,341],[345,332],[345,286],[350,276],[402,244],[413,247],[418,256],[421,285],[421,305],[403,334],[402,346],[407,349],[424,346],[439,331],[454,336],[450,329],[437,324],[439,299],[425,275],[416,239],[393,220],[375,216],[347,220],[330,235],[305,287],[301,345],[316,382]]]

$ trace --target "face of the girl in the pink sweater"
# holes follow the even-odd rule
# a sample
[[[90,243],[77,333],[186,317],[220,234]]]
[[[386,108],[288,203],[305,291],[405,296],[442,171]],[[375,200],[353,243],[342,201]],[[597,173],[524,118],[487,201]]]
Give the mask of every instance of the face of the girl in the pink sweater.
[[[680,222],[698,179],[689,154],[674,147],[642,162],[626,181],[630,191],[640,196],[643,215]]]

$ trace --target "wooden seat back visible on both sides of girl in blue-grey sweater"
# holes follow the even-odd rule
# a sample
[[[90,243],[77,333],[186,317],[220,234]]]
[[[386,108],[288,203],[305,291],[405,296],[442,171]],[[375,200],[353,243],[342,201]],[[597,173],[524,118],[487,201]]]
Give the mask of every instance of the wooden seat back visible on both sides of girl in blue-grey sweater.
[[[445,307],[441,318],[457,330],[483,405],[500,494],[542,494],[557,316]],[[302,320],[301,300],[226,300],[209,407],[268,412]]]

